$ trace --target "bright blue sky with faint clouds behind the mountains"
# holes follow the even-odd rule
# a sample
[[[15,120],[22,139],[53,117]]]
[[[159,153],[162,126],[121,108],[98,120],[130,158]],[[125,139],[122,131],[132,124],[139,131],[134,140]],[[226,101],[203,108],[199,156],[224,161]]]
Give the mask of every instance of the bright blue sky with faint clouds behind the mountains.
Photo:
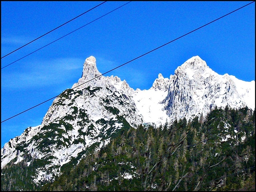
[[[102,2],[1,1],[1,57]],[[2,58],[1,68],[126,3],[98,6]],[[105,73],[248,3],[130,2],[1,69],[1,121],[71,88],[91,55]],[[170,77],[195,55],[221,75],[255,81],[255,2],[105,76],[117,75],[134,89],[149,89],[159,73]],[[52,101],[1,123],[1,148],[27,127],[40,125]]]

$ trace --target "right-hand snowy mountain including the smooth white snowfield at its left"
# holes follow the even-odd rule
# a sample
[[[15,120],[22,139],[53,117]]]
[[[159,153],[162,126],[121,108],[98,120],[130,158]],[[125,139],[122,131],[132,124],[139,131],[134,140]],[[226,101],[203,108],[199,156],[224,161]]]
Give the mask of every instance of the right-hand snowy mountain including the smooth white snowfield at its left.
[[[255,81],[212,71],[199,56],[188,59],[174,75],[158,75],[149,90],[133,94],[143,121],[156,124],[175,119],[205,117],[215,107],[255,109]]]

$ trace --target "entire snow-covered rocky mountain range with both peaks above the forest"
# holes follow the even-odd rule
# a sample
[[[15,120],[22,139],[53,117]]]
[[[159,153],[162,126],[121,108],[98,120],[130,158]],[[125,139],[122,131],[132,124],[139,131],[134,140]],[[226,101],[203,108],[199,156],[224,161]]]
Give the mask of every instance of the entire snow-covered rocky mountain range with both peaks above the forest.
[[[4,145],[1,168],[22,160],[28,166],[37,162],[33,181],[52,180],[67,163],[77,164],[122,129],[205,117],[226,105],[254,110],[255,81],[219,75],[195,56],[170,78],[159,74],[149,90],[134,90],[119,77],[102,76],[91,56],[84,62],[82,77],[53,101],[41,125],[28,127]]]

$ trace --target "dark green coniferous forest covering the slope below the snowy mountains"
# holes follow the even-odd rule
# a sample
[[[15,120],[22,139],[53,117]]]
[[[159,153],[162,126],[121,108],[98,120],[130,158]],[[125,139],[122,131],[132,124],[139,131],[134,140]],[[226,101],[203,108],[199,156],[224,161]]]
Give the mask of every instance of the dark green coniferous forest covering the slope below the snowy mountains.
[[[215,108],[206,118],[123,127],[39,185],[31,178],[37,163],[47,162],[8,164],[1,190],[255,191],[255,110]]]

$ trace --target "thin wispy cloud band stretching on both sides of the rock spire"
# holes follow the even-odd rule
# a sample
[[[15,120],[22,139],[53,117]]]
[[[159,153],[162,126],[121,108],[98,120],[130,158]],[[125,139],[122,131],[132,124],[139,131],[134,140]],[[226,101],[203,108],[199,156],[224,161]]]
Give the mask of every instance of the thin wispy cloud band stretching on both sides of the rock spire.
[[[50,61],[36,60],[33,63],[19,63],[22,66],[20,71],[2,71],[1,86],[2,89],[13,90],[63,85],[66,82],[76,83],[82,75],[83,63],[84,58],[69,57]],[[120,63],[97,57],[96,65],[100,73],[105,73],[117,67]],[[147,74],[134,67],[118,68],[104,76],[111,75],[118,76],[121,80],[125,79],[130,87],[134,89],[146,89],[151,87],[153,83],[150,82]]]

